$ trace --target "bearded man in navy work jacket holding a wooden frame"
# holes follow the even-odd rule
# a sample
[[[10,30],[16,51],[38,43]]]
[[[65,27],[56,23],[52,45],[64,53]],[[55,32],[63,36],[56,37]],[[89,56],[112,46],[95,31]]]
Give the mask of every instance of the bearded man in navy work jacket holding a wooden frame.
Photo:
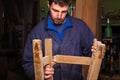
[[[29,33],[23,55],[23,67],[31,80],[34,80],[32,40],[52,39],[53,55],[91,56],[95,52],[94,34],[82,20],[69,16],[71,0],[48,0],[47,17]],[[93,46],[92,46],[93,45]],[[43,54],[44,55],[44,54]],[[82,80],[81,65],[58,64],[44,69],[45,79],[54,76],[54,80]]]

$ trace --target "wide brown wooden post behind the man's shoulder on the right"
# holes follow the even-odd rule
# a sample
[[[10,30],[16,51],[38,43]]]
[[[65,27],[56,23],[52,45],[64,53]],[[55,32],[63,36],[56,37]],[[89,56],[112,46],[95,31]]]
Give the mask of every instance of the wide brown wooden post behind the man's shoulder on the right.
[[[100,0],[76,0],[75,11],[75,17],[85,21],[98,39],[101,34],[99,3]]]

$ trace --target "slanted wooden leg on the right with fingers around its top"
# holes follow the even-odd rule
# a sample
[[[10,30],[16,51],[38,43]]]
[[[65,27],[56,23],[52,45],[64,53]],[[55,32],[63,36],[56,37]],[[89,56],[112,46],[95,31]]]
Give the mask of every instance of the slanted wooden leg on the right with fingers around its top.
[[[97,80],[98,79],[101,62],[104,57],[105,45],[102,44],[101,42],[97,42],[97,44],[98,44],[98,49],[97,49],[97,52],[92,55],[92,63],[89,67],[87,80]]]

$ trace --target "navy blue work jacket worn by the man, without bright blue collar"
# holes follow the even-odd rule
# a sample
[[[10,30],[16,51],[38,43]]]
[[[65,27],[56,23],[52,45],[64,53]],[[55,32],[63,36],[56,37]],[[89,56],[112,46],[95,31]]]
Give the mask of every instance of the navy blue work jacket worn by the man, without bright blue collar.
[[[46,38],[52,39],[53,55],[72,55],[72,56],[91,56],[91,46],[93,45],[94,34],[89,27],[81,19],[69,16],[72,23],[64,31],[62,42],[56,36],[53,30],[47,29],[48,17],[38,23],[34,29],[29,33],[26,40],[23,68],[31,80],[34,80],[34,64],[32,40],[42,40],[42,49],[44,55],[44,41]],[[54,80],[82,80],[81,65],[73,64],[55,64]]]

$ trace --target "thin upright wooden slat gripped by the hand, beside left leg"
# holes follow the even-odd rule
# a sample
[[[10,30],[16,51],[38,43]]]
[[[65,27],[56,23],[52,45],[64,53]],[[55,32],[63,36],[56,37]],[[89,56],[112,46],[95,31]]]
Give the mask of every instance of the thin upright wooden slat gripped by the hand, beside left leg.
[[[49,65],[52,66],[52,39],[45,39],[45,56],[49,57]],[[47,80],[53,80],[53,77],[47,79]]]

